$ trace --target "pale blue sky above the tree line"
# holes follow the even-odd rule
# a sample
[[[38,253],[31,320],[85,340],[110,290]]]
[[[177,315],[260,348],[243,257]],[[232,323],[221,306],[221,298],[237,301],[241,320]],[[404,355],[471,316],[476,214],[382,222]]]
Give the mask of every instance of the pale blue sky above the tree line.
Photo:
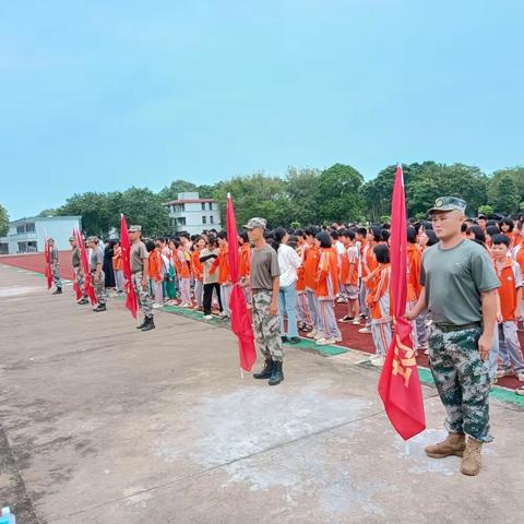
[[[524,163],[522,0],[0,7],[0,203],[336,162]]]

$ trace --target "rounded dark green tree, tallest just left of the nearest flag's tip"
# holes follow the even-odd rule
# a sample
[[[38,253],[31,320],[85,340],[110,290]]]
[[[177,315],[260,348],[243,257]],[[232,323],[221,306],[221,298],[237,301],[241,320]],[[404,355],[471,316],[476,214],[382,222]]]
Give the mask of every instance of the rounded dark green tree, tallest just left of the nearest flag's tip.
[[[318,221],[347,222],[360,216],[362,182],[364,177],[352,166],[335,164],[324,169],[317,182]]]

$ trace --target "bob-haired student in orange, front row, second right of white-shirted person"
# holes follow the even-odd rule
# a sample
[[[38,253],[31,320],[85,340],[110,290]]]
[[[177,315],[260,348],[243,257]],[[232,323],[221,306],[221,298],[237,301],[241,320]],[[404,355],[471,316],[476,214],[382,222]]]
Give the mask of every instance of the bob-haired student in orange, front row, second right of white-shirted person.
[[[319,346],[326,346],[342,342],[341,330],[335,317],[335,298],[338,295],[338,264],[330,234],[321,231],[317,234],[315,240],[320,249],[315,294],[319,299],[321,331],[314,340]]]

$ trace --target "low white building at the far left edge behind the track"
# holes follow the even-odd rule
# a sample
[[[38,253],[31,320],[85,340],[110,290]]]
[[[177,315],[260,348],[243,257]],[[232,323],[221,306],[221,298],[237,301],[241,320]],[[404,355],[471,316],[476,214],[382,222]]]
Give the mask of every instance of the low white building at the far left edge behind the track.
[[[0,254],[44,251],[47,238],[59,250],[70,249],[69,237],[82,225],[81,216],[33,216],[9,223],[7,237],[0,237]]]

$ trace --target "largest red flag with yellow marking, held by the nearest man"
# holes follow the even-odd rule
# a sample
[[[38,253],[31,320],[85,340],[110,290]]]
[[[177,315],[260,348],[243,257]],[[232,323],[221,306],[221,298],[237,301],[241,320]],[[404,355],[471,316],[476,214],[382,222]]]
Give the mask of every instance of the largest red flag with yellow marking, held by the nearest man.
[[[398,434],[408,440],[426,429],[412,325],[404,318],[407,297],[406,201],[401,165],[396,168],[391,206],[391,294],[396,329],[379,380],[385,413]]]

